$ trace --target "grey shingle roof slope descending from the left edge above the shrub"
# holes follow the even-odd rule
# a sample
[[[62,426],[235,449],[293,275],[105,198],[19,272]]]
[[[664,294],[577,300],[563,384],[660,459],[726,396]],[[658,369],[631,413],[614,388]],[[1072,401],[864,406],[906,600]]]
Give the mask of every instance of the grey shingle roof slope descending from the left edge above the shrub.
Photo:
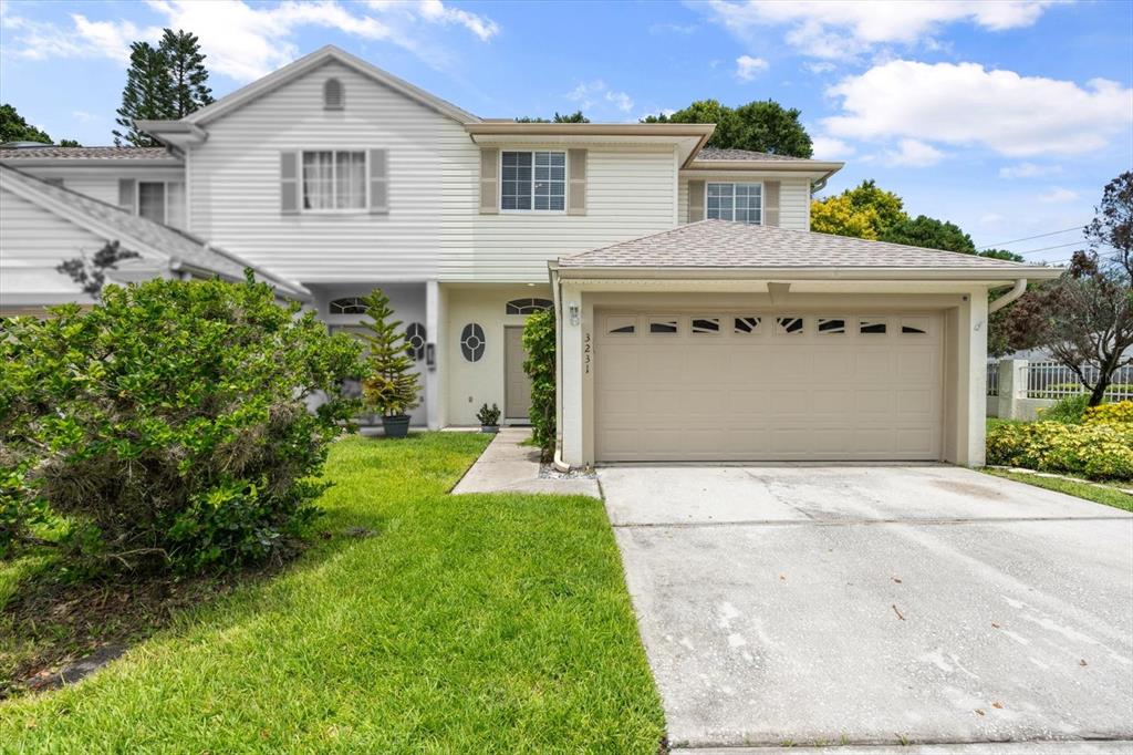
[[[62,218],[74,222],[75,217],[79,217],[102,228],[109,228],[126,248],[136,252],[148,251],[150,254],[173,263],[181,263],[205,273],[216,273],[230,280],[242,280],[245,268],[252,268],[284,296],[310,298],[310,291],[303,286],[245,262],[230,252],[208,245],[191,234],[131,214],[85,194],[48,184],[10,166],[0,164],[0,179],[5,188],[15,187],[23,195],[45,201],[44,205],[48,206],[44,209],[57,212]],[[147,249],[138,249],[137,245],[143,245]]]

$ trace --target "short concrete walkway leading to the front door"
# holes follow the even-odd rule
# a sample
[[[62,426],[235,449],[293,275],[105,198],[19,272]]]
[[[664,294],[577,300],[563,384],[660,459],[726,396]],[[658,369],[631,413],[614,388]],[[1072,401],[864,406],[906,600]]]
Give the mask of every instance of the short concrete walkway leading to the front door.
[[[522,446],[531,436],[528,427],[502,427],[476,464],[452,489],[466,493],[550,493],[602,498],[598,480],[590,476],[540,476],[539,450]]]

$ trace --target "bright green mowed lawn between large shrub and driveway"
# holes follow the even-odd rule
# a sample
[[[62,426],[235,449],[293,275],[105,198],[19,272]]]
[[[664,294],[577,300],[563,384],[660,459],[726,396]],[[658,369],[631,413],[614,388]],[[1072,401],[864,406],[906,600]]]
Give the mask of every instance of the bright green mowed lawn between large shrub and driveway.
[[[487,441],[337,443],[330,538],[85,681],[0,704],[0,749],[657,752],[602,503],[446,495]]]

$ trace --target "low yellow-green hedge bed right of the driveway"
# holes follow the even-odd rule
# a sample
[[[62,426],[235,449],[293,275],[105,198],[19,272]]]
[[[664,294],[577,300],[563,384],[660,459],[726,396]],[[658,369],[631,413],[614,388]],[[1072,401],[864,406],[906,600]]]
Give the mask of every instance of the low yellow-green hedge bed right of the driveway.
[[[996,425],[988,430],[987,461],[1091,480],[1133,480],[1133,423]]]

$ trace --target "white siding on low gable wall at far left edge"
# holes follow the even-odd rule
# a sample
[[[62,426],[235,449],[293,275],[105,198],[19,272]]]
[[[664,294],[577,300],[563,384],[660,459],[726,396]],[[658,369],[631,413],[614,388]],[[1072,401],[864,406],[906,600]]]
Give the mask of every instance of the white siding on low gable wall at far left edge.
[[[2,188],[0,218],[0,304],[88,300],[56,265],[97,252],[102,238]]]

